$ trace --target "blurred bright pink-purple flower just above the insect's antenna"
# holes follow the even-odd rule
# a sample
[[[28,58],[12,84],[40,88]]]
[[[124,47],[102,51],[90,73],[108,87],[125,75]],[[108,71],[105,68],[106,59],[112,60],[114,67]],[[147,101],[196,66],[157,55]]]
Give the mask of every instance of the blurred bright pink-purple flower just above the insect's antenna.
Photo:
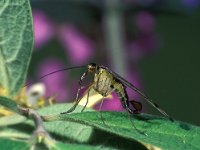
[[[69,58],[73,64],[85,64],[93,56],[93,42],[81,34],[74,26],[67,25],[61,27],[60,38],[66,54],[70,55]]]

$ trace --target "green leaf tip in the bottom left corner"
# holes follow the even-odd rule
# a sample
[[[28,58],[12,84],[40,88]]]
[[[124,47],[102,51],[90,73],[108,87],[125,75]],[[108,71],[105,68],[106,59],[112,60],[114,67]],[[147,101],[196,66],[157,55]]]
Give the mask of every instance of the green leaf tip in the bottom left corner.
[[[23,149],[29,150],[29,145],[25,141],[11,140],[6,138],[0,138],[1,150],[14,150]]]

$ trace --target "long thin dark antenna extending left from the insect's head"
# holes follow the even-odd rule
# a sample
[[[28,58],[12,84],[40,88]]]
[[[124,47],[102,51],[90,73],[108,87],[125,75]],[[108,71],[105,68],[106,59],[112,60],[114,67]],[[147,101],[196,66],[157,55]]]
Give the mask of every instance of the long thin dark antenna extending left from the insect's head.
[[[38,80],[41,80],[41,79],[43,79],[43,78],[45,78],[45,77],[47,77],[47,76],[50,76],[50,75],[55,74],[55,73],[58,73],[58,72],[67,71],[67,70],[72,70],[72,69],[80,69],[80,68],[85,68],[85,67],[86,67],[86,66],[74,66],[74,67],[68,67],[68,68],[58,69],[58,70],[52,71],[52,72],[50,72],[50,73],[47,73],[47,74],[41,76]],[[29,82],[29,83],[27,83],[24,87],[30,86],[30,85],[32,85],[32,84],[33,84],[33,82]]]

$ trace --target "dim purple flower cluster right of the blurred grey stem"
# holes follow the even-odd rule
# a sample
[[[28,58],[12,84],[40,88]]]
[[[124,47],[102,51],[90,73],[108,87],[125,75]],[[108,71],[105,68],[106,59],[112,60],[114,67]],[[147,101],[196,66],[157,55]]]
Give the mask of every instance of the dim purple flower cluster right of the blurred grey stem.
[[[127,44],[127,49],[133,53],[131,60],[138,61],[141,57],[151,54],[158,47],[158,38],[154,33],[154,17],[145,11],[139,12],[135,16],[135,25],[139,32],[136,38]]]

